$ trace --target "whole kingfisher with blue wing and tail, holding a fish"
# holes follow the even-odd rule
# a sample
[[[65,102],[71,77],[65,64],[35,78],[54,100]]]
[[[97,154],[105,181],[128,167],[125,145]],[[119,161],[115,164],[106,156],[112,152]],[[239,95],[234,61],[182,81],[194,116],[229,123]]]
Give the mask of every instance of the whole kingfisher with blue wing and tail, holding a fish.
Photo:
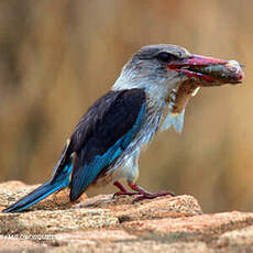
[[[136,184],[142,147],[161,125],[182,132],[185,108],[199,87],[242,82],[241,66],[237,61],[195,55],[177,45],[143,46],[124,65],[110,91],[76,125],[52,178],[3,212],[23,211],[66,187],[70,201],[89,186],[106,184],[119,188],[114,196],[136,195],[134,201],[173,195],[150,193]],[[129,189],[120,179],[127,180]]]

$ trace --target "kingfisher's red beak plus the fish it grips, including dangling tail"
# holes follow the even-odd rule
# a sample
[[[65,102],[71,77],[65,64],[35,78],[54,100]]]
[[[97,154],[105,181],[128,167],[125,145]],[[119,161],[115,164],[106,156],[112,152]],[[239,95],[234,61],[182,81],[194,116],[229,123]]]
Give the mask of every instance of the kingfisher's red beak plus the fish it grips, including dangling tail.
[[[170,62],[167,68],[187,78],[174,88],[167,98],[168,114],[162,130],[173,127],[178,133],[182,133],[185,108],[199,88],[241,84],[244,78],[242,67],[243,65],[233,59],[223,61],[201,55],[190,55]]]

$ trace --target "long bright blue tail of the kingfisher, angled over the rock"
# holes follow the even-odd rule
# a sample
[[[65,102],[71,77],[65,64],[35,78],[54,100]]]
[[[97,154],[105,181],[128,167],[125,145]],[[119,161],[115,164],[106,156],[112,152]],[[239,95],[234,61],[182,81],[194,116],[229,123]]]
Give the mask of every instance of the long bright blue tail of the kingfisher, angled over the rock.
[[[73,169],[72,164],[66,165],[64,169],[56,177],[52,178],[52,180],[45,183],[44,185],[40,186],[32,193],[28,194],[18,202],[2,210],[2,212],[23,211],[26,208],[46,198],[47,196],[52,195],[53,193],[67,187],[70,182],[69,178],[70,178],[72,169]]]

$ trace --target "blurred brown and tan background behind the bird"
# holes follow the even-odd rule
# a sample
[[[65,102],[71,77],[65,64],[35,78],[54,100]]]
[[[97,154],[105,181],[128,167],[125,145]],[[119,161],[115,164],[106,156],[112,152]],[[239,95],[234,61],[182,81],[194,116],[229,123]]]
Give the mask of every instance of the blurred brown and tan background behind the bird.
[[[182,135],[158,133],[139,183],[204,211],[253,211],[253,1],[0,1],[0,182],[44,183],[76,123],[129,57],[169,43],[246,65],[243,85],[202,88]],[[89,195],[113,193],[112,186]]]

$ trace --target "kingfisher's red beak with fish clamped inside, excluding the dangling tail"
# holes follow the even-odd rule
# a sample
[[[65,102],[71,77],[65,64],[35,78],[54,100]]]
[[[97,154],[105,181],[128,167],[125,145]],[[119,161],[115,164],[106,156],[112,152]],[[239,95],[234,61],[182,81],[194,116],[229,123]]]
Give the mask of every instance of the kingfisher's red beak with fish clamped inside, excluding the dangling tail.
[[[174,61],[167,65],[169,69],[186,75],[202,85],[239,84],[244,73],[235,61],[224,61],[201,55],[191,55],[187,58]]]

